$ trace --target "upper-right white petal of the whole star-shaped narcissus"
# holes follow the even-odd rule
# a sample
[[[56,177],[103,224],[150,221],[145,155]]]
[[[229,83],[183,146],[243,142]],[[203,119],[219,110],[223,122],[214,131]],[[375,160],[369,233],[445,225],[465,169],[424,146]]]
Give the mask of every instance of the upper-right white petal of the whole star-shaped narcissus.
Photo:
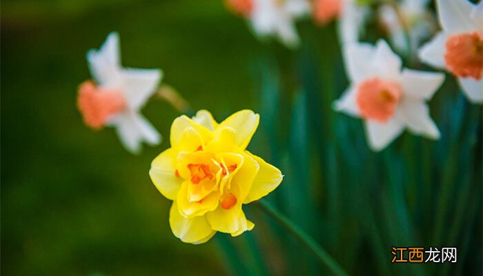
[[[444,81],[444,74],[404,68],[401,86],[405,96],[415,99],[431,99]]]

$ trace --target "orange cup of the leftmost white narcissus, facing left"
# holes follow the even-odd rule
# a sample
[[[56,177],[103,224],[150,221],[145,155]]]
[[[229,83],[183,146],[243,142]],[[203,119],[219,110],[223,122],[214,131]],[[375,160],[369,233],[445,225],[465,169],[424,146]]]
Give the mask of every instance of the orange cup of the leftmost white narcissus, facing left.
[[[92,81],[85,81],[79,86],[77,106],[86,125],[99,129],[111,115],[126,109],[126,99],[119,91],[103,90]]]

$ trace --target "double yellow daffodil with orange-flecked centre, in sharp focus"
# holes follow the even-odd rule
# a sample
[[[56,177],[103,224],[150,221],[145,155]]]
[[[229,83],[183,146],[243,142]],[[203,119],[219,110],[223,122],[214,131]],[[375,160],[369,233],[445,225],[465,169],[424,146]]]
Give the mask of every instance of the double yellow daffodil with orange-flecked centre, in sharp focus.
[[[151,164],[149,175],[159,192],[172,200],[172,233],[190,244],[207,242],[217,231],[233,237],[254,224],[242,204],[268,195],[282,182],[279,169],[248,150],[259,115],[242,110],[218,124],[200,110],[171,126],[171,148]]]

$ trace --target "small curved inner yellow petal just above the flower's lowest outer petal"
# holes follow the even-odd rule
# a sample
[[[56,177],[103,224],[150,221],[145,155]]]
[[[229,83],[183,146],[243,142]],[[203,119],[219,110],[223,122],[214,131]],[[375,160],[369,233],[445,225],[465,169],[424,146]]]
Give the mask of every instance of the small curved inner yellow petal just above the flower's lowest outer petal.
[[[210,193],[210,195],[207,195],[201,201],[190,201],[188,197],[188,185],[193,184],[190,181],[183,182],[177,197],[178,210],[182,216],[199,217],[217,208],[219,204],[218,191]]]

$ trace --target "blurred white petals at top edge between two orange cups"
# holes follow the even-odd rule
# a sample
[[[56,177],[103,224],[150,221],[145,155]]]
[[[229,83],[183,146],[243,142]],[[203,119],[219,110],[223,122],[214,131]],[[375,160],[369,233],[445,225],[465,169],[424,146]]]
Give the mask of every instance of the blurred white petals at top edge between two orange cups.
[[[253,9],[248,14],[250,24],[260,37],[276,36],[288,47],[299,44],[295,28],[296,19],[309,14],[307,0],[252,0]]]

